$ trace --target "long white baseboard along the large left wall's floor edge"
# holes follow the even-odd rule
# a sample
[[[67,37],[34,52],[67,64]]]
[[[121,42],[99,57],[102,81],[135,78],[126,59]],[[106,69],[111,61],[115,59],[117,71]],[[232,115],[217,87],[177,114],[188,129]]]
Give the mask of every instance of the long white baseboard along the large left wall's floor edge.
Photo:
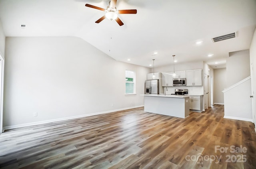
[[[116,110],[109,110],[109,111],[104,111],[104,112],[83,114],[83,115],[79,115],[79,116],[71,116],[71,117],[66,117],[66,118],[57,118],[57,119],[52,119],[52,120],[40,121],[40,122],[32,122],[32,123],[18,124],[18,125],[12,125],[12,126],[5,126],[5,127],[3,127],[3,132],[4,132],[4,130],[9,130],[9,129],[14,129],[14,128],[34,126],[34,125],[38,125],[38,124],[46,124],[46,123],[51,123],[51,122],[59,122],[59,121],[63,121],[63,120],[72,120],[72,119],[75,119],[75,118],[82,118],[82,117],[94,116],[94,115],[99,115],[99,114],[118,112],[118,111],[122,111],[122,110],[128,110],[128,109],[132,109],[132,108],[139,108],[139,107],[143,107],[143,106],[144,105],[140,105],[140,106],[134,106],[134,107],[128,107],[128,108],[120,108],[120,109],[116,109]]]

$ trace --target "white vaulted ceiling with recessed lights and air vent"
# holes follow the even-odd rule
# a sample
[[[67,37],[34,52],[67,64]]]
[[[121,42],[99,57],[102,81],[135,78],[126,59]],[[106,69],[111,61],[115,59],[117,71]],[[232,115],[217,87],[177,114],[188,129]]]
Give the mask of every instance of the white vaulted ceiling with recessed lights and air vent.
[[[0,20],[6,36],[81,37],[118,61],[145,67],[153,58],[156,67],[172,64],[172,55],[177,63],[225,67],[229,52],[250,48],[256,28],[256,0],[117,0],[118,10],[137,14],[119,14],[123,26],[108,19],[94,23],[105,12],[85,4],[106,8],[109,1],[0,0]],[[235,31],[236,38],[211,40]]]

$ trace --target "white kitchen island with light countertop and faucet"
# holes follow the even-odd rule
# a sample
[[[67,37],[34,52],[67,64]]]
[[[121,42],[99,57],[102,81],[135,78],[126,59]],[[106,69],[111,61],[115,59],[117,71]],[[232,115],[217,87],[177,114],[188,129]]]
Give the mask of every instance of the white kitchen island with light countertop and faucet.
[[[189,96],[170,94],[141,94],[144,111],[179,118],[189,115]]]

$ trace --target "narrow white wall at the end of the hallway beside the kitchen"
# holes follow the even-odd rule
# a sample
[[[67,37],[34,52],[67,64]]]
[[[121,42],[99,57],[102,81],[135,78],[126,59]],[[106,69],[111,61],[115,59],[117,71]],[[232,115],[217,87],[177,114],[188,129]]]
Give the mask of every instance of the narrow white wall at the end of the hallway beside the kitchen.
[[[226,88],[226,68],[214,69],[214,104],[224,104],[224,93]]]

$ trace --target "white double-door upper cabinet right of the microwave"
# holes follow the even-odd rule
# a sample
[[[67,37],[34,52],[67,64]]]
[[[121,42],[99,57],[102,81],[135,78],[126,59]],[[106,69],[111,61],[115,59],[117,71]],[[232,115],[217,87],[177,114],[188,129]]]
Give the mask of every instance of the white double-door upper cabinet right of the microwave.
[[[202,69],[186,71],[187,86],[202,86]]]

